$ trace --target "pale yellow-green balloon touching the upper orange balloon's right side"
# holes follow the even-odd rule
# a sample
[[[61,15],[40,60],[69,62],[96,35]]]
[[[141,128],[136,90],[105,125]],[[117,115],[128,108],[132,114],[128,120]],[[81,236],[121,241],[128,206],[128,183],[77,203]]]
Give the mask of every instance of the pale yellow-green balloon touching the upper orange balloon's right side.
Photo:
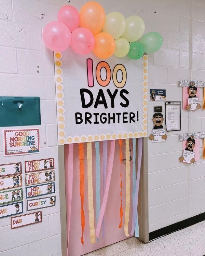
[[[126,21],[120,12],[110,12],[106,15],[103,31],[110,34],[114,39],[122,36],[125,27]]]

